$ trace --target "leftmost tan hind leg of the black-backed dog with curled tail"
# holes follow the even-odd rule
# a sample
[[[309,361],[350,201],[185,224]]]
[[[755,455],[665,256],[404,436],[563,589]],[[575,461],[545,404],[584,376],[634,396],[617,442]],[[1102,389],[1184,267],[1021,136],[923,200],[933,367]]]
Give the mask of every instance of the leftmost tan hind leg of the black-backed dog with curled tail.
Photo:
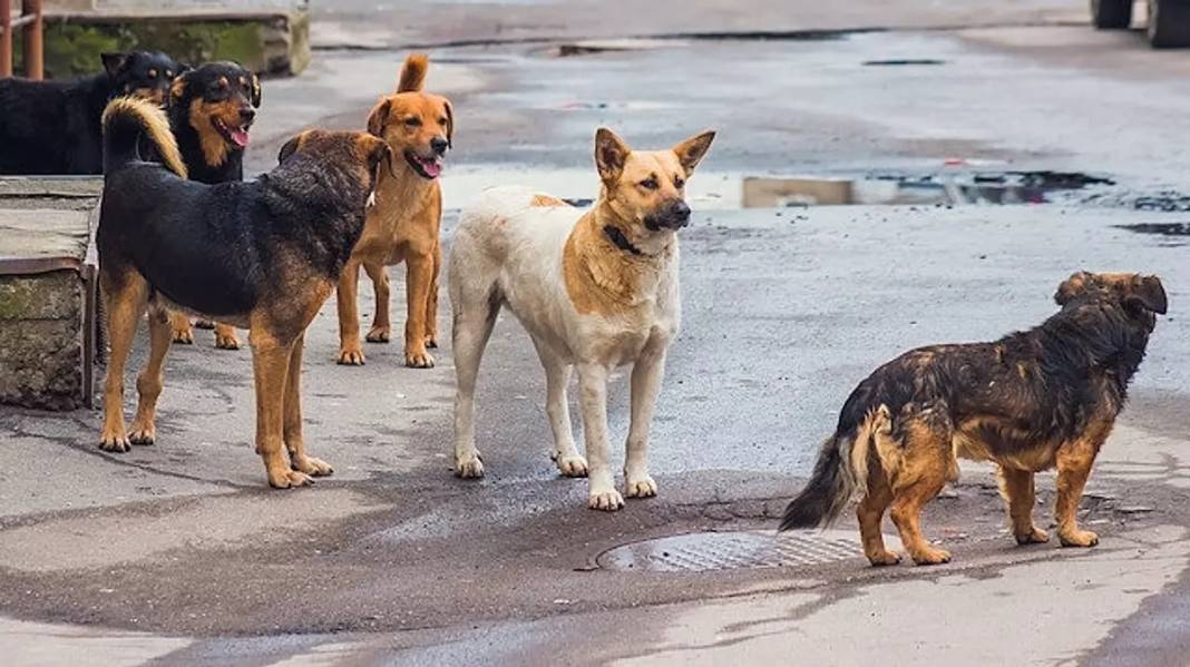
[[[148,304],[149,285],[133,270],[123,276],[104,273],[101,281],[112,354],[107,361],[107,377],[104,379],[104,430],[99,436],[99,448],[127,452],[131,442],[124,426],[124,365],[132,350],[137,323]]]

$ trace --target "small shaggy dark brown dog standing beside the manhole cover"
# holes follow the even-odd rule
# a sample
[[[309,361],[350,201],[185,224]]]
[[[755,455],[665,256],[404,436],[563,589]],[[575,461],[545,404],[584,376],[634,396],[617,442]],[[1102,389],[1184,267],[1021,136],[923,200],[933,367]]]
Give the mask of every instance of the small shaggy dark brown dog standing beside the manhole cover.
[[[1081,272],[1054,298],[1061,310],[1039,327],[996,342],[914,350],[859,383],[781,528],[827,524],[857,493],[872,565],[900,560],[881,537],[890,506],[913,560],[946,562],[951,554],[929,546],[919,515],[958,478],[963,457],[1000,466],[1019,543],[1048,540],[1033,524],[1033,473],[1052,467],[1058,539],[1067,547],[1098,543],[1078,527],[1078,502],[1166,296],[1154,276]]]

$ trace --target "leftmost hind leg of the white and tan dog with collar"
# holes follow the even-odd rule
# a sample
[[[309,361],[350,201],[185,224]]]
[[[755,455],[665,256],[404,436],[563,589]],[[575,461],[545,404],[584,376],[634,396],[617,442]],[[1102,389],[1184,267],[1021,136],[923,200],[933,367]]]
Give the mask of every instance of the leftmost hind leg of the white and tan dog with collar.
[[[480,375],[483,348],[496,325],[501,298],[495,284],[451,284],[455,350],[455,474],[464,479],[483,477],[483,463],[475,448],[475,383]]]

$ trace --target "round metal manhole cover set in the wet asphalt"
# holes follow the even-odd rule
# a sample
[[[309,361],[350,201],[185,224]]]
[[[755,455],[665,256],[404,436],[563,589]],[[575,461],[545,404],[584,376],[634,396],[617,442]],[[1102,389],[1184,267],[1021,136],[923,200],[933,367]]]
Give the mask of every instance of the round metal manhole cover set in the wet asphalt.
[[[890,548],[900,547],[885,536]],[[859,535],[846,530],[694,533],[633,542],[599,555],[600,567],[620,572],[706,572],[821,565],[862,556]]]

